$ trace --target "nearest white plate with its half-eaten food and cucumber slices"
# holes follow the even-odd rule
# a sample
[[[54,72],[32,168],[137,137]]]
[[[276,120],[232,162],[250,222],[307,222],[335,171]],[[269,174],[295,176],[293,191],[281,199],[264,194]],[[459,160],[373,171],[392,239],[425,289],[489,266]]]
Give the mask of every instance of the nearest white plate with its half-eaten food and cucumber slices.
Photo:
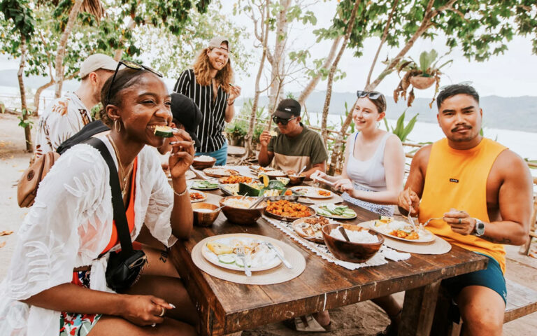
[[[243,248],[245,258],[252,272],[264,271],[277,267],[282,262],[278,255],[266,246],[262,239],[250,237],[222,237],[208,241],[201,248],[201,255],[213,265],[225,269],[244,272],[243,261],[238,258],[239,247]],[[283,255],[283,251],[277,244],[275,248]],[[209,247],[210,246],[210,247]],[[219,253],[216,254],[215,252]]]

